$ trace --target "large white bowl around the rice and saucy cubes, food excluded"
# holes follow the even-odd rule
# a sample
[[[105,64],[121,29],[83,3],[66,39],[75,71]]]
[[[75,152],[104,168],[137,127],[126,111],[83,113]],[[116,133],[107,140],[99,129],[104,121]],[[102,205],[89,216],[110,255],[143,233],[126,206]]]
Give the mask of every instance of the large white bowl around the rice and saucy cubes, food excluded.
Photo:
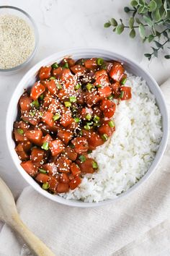
[[[158,151],[156,153],[156,157],[154,158],[153,163],[151,164],[150,168],[146,172],[146,174],[143,176],[140,181],[135,184],[133,187],[128,189],[127,192],[124,192],[120,194],[117,198],[112,200],[104,200],[102,202],[81,202],[79,200],[66,200],[63,197],[60,197],[58,195],[51,195],[50,193],[43,190],[37,182],[32,179],[31,176],[29,176],[23,168],[20,166],[20,161],[18,158],[17,153],[14,150],[15,143],[12,139],[12,129],[14,121],[17,119],[17,103],[19,101],[20,95],[22,95],[23,90],[29,88],[32,86],[32,84],[36,80],[36,74],[37,71],[40,69],[40,67],[53,64],[55,61],[61,61],[63,57],[65,56],[71,56],[73,59],[81,59],[81,58],[91,58],[91,57],[101,57],[103,59],[115,59],[117,61],[121,61],[125,65],[125,69],[130,72],[131,74],[135,74],[136,76],[143,77],[144,80],[146,80],[148,87],[150,88],[151,92],[156,96],[156,103],[158,104],[158,108],[161,111],[162,115],[162,129],[163,129],[163,137],[161,139],[161,144],[158,148]],[[125,195],[130,194],[130,192],[134,191],[135,188],[140,186],[141,183],[143,183],[148,177],[153,173],[158,163],[161,161],[161,157],[164,154],[164,150],[166,148],[166,143],[168,140],[169,135],[169,115],[166,108],[166,103],[164,101],[164,97],[161,93],[160,88],[158,87],[158,84],[156,81],[151,77],[151,75],[144,70],[142,67],[140,67],[135,61],[132,61],[130,59],[125,58],[124,56],[121,56],[119,54],[115,54],[112,51],[106,51],[103,49],[97,49],[97,48],[74,48],[68,51],[61,51],[59,53],[53,54],[49,56],[46,59],[43,59],[38,64],[36,64],[30,71],[27,72],[27,74],[24,75],[22,80],[17,85],[17,88],[14,90],[14,93],[12,95],[12,99],[9,103],[9,108],[7,111],[6,116],[6,140],[9,147],[9,152],[12,155],[12,159],[14,161],[15,166],[19,170],[19,173],[23,176],[23,178],[34,188],[42,194],[45,197],[48,197],[50,200],[53,200],[55,202],[60,202],[64,205],[70,205],[70,206],[76,206],[81,208],[86,207],[95,207],[99,205],[106,205],[109,202],[115,202],[116,200],[119,200],[120,197],[125,197]]]

